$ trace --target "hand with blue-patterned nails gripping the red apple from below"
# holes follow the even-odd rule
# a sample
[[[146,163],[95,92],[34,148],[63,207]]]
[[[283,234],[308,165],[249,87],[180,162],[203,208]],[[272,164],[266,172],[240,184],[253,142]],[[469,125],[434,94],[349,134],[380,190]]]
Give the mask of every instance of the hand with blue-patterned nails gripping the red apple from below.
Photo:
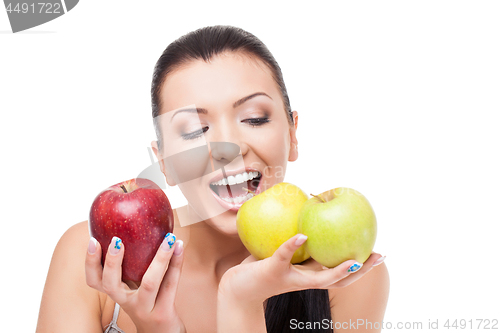
[[[107,249],[104,267],[101,246],[91,239],[85,259],[87,284],[106,293],[130,316],[138,333],[185,332],[184,323],[175,310],[174,301],[183,262],[183,242],[170,246],[163,240],[153,261],[144,274],[141,285],[131,289],[122,281],[122,261],[126,244]]]

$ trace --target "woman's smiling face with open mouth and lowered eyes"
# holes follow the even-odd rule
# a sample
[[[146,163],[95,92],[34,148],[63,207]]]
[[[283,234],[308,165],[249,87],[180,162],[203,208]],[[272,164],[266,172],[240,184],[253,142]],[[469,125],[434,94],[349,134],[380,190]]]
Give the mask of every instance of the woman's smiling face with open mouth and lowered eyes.
[[[153,149],[168,184],[198,220],[236,235],[237,210],[252,196],[245,188],[260,193],[282,182],[297,159],[297,125],[271,71],[242,53],[195,60],[167,75],[160,98],[162,154],[156,142]]]

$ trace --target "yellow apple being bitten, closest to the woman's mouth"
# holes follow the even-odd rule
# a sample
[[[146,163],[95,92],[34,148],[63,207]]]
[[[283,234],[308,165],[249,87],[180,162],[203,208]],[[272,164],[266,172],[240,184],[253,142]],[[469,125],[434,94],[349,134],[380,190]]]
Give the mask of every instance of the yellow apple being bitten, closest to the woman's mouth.
[[[298,232],[298,216],[308,199],[300,188],[289,183],[276,184],[241,205],[236,214],[238,235],[257,259],[265,259]],[[309,258],[302,245],[293,254],[292,264]]]

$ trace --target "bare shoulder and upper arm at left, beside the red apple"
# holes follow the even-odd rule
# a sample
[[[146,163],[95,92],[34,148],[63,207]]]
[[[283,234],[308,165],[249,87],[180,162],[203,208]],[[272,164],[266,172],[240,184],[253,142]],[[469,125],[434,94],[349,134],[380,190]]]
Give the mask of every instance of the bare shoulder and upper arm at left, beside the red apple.
[[[97,290],[85,281],[87,222],[69,228],[52,256],[36,332],[102,332]]]

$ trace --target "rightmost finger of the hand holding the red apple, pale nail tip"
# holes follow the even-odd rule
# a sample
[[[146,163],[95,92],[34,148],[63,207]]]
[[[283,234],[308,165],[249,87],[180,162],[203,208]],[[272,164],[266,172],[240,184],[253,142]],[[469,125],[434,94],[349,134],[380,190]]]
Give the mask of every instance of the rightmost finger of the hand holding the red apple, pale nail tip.
[[[182,272],[182,264],[184,262],[184,242],[178,240],[175,245],[172,258],[165,277],[160,285],[158,297],[156,299],[155,308],[161,313],[171,311],[174,306],[175,296],[177,294],[177,287]]]

